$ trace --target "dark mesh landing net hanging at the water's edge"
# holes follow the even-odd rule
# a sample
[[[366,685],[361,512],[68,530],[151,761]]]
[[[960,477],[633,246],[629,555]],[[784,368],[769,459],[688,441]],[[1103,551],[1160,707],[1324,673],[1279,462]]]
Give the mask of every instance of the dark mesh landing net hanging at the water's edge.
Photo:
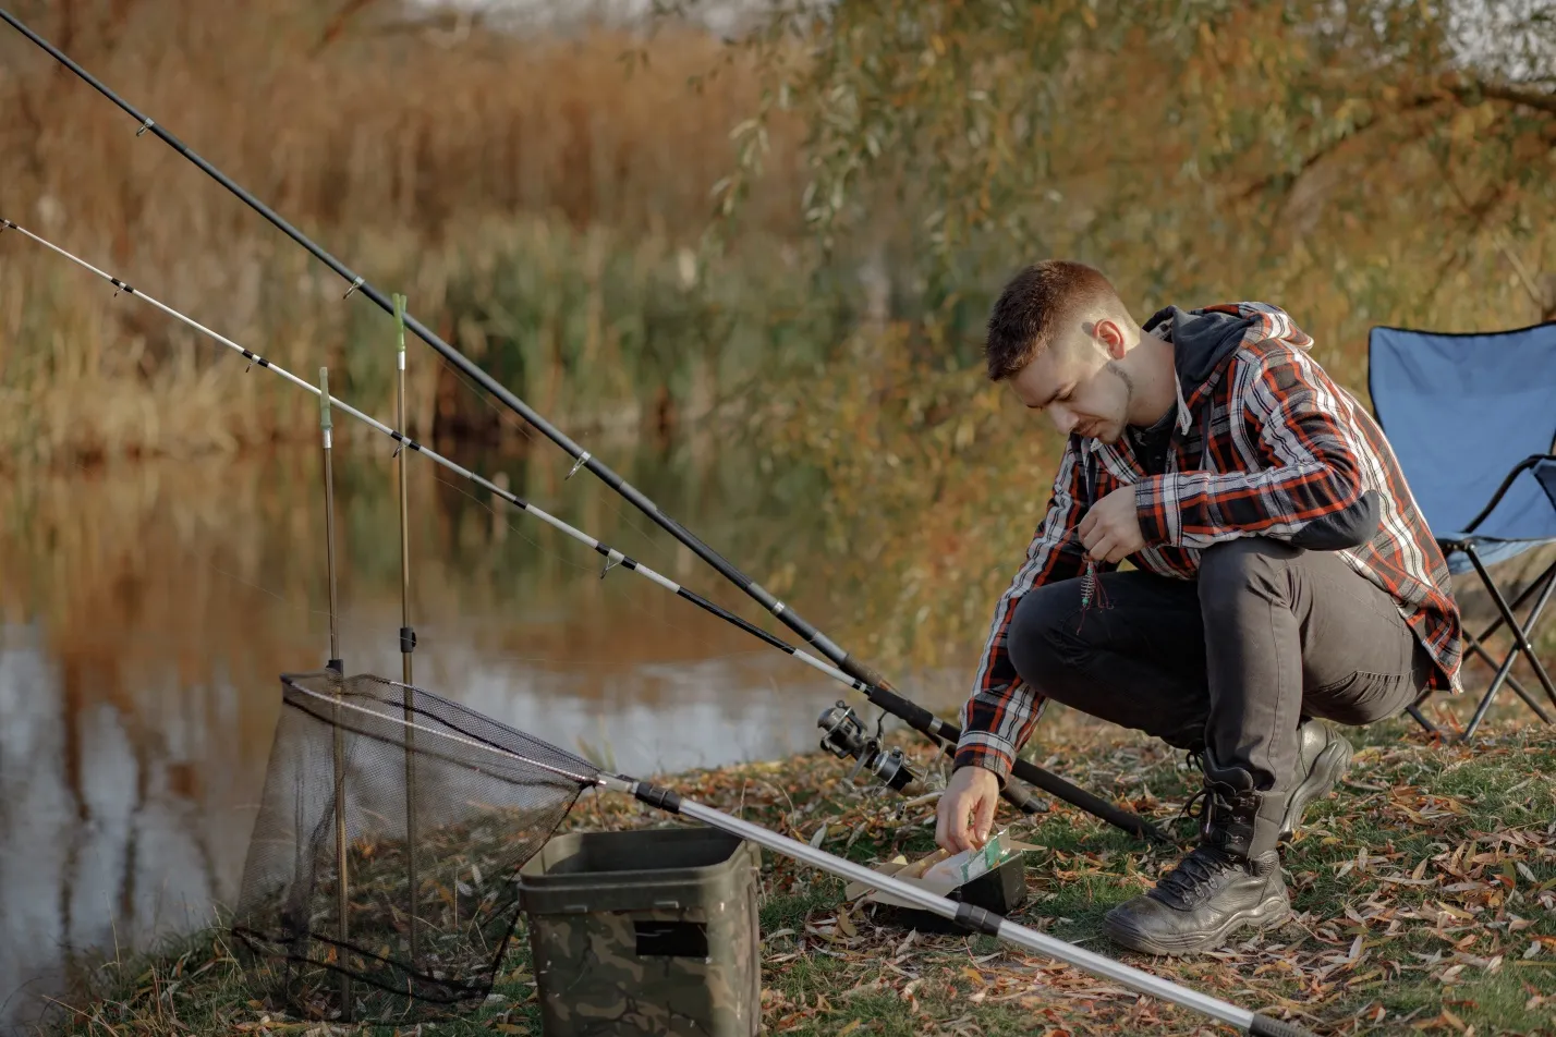
[[[288,675],[282,689],[232,920],[252,979],[302,1018],[400,1023],[482,1001],[518,919],[518,869],[598,770],[377,676]]]

